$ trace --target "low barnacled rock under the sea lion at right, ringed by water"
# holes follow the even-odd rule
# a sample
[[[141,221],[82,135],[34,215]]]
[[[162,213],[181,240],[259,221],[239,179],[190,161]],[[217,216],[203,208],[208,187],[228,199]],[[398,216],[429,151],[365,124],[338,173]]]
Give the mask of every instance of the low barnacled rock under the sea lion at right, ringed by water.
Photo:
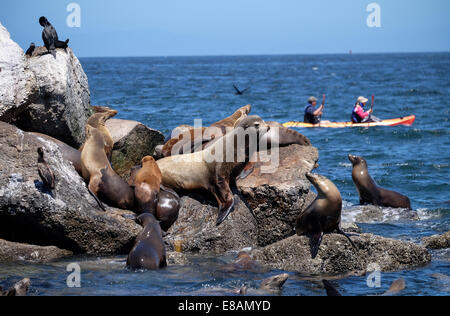
[[[252,254],[255,260],[273,269],[313,275],[362,275],[374,264],[384,272],[399,271],[431,262],[431,255],[426,248],[411,242],[371,234],[351,238],[358,247],[358,252],[344,236],[325,235],[314,260],[311,259],[309,239],[303,236],[293,236],[265,248],[255,249]]]

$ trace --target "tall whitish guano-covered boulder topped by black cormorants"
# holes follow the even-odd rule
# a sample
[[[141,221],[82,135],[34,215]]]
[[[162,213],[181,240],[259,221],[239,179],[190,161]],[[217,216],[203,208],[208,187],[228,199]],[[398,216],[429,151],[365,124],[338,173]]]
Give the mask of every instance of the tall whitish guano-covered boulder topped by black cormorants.
[[[72,49],[58,49],[55,59],[37,47],[25,57],[1,25],[0,43],[0,120],[79,147],[91,114],[90,92]]]

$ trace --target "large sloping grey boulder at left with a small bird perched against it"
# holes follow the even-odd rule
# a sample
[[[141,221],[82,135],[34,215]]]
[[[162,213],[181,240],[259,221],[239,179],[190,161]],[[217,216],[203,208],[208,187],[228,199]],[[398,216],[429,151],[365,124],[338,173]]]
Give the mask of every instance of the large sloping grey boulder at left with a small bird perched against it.
[[[38,147],[55,174],[56,199],[42,191]],[[58,146],[0,122],[0,148],[0,238],[74,253],[128,254],[142,230],[134,215],[101,211]]]

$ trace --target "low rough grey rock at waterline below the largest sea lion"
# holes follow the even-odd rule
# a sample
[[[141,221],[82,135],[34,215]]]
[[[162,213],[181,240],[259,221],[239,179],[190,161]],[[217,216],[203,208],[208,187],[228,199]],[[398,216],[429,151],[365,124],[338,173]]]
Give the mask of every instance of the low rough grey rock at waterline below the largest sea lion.
[[[222,254],[256,245],[257,223],[239,196],[235,196],[234,212],[216,227],[218,213],[216,206],[182,197],[178,220],[164,238],[167,250]]]

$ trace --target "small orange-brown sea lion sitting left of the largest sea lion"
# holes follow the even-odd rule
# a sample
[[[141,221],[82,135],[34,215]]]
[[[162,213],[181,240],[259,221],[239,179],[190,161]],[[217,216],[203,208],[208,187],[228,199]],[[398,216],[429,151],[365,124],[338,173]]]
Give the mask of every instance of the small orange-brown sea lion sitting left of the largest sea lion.
[[[134,197],[139,214],[156,215],[161,180],[161,171],[155,159],[151,156],[144,157],[142,168],[137,172],[134,180]]]

